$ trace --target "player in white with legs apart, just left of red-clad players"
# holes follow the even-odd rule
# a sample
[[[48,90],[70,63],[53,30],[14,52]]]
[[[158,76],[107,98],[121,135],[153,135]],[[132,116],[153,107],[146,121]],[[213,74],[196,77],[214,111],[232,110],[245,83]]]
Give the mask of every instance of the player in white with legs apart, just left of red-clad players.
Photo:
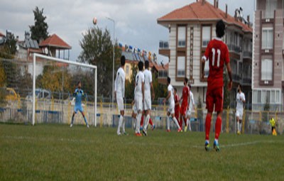
[[[170,116],[172,116],[173,121],[178,126],[178,132],[182,131],[182,128],[180,128],[180,125],[178,124],[178,120],[175,119],[175,100],[173,97],[173,86],[170,84],[170,77],[167,79],[167,85],[168,85],[168,96],[165,97],[163,100],[163,104],[168,100],[168,112],[167,112],[167,124],[168,128],[167,131],[170,132]]]

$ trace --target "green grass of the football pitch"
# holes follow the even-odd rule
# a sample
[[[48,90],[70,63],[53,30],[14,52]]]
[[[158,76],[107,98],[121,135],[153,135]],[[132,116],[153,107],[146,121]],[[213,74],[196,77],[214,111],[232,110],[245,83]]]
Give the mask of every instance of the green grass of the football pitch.
[[[0,180],[284,180],[283,136],[127,131],[0,124]]]

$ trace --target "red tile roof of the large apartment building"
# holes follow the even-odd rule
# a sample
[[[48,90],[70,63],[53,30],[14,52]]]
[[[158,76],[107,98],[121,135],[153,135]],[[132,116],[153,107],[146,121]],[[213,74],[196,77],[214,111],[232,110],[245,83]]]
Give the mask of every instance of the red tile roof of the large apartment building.
[[[223,19],[227,24],[233,24],[242,28],[243,31],[252,33],[253,29],[241,21],[236,21],[234,17],[230,16],[219,8],[215,8],[212,4],[205,1],[202,5],[202,1],[197,1],[192,4],[183,6],[180,9],[158,18],[158,23],[173,22],[173,21],[217,21]]]

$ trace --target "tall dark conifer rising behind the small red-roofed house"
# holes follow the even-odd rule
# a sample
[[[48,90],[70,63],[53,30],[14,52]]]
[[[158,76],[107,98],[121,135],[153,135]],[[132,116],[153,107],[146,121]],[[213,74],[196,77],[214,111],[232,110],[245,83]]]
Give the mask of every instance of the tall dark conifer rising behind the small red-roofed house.
[[[31,30],[31,38],[40,43],[40,40],[48,38],[48,23],[45,22],[46,16],[43,16],[43,9],[40,11],[38,6],[35,6],[33,14],[35,16],[35,24],[29,26]]]

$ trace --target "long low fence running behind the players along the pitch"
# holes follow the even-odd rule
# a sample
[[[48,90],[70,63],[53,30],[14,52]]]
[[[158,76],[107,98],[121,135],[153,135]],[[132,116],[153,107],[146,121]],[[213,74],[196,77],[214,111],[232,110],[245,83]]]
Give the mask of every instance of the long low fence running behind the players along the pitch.
[[[45,104],[46,103],[46,104]],[[119,111],[116,104],[98,102],[98,114],[94,115],[94,104],[84,102],[84,112],[87,116],[87,121],[92,126],[108,126],[116,127],[119,120]],[[113,107],[114,106],[114,107]],[[62,111],[64,110],[64,111]],[[165,105],[153,105],[151,111],[151,119],[156,128],[165,129],[166,127],[166,110]],[[57,99],[37,100],[35,124],[70,124],[73,112],[73,106],[67,100],[62,102]],[[63,113],[63,114],[62,114]],[[133,126],[133,119],[131,118],[132,106],[126,104],[125,116],[126,128]],[[236,116],[234,109],[224,109],[222,114],[222,132],[236,133]],[[204,131],[205,118],[207,111],[205,109],[195,109],[192,112],[190,125],[192,131]],[[0,107],[0,121],[1,122],[15,122],[15,123],[31,123],[31,102],[26,99],[18,99],[18,101],[9,102],[5,106]],[[97,116],[97,125],[94,124],[94,116]],[[276,121],[276,131],[279,134],[283,133],[284,127],[284,112],[279,111],[250,111],[244,110],[242,118],[242,133],[250,134],[270,134],[271,125],[269,119],[274,117]],[[212,117],[212,131],[214,131],[214,124],[216,114]],[[75,124],[84,124],[82,116],[75,116]],[[170,121],[170,127],[176,129],[173,121]]]

